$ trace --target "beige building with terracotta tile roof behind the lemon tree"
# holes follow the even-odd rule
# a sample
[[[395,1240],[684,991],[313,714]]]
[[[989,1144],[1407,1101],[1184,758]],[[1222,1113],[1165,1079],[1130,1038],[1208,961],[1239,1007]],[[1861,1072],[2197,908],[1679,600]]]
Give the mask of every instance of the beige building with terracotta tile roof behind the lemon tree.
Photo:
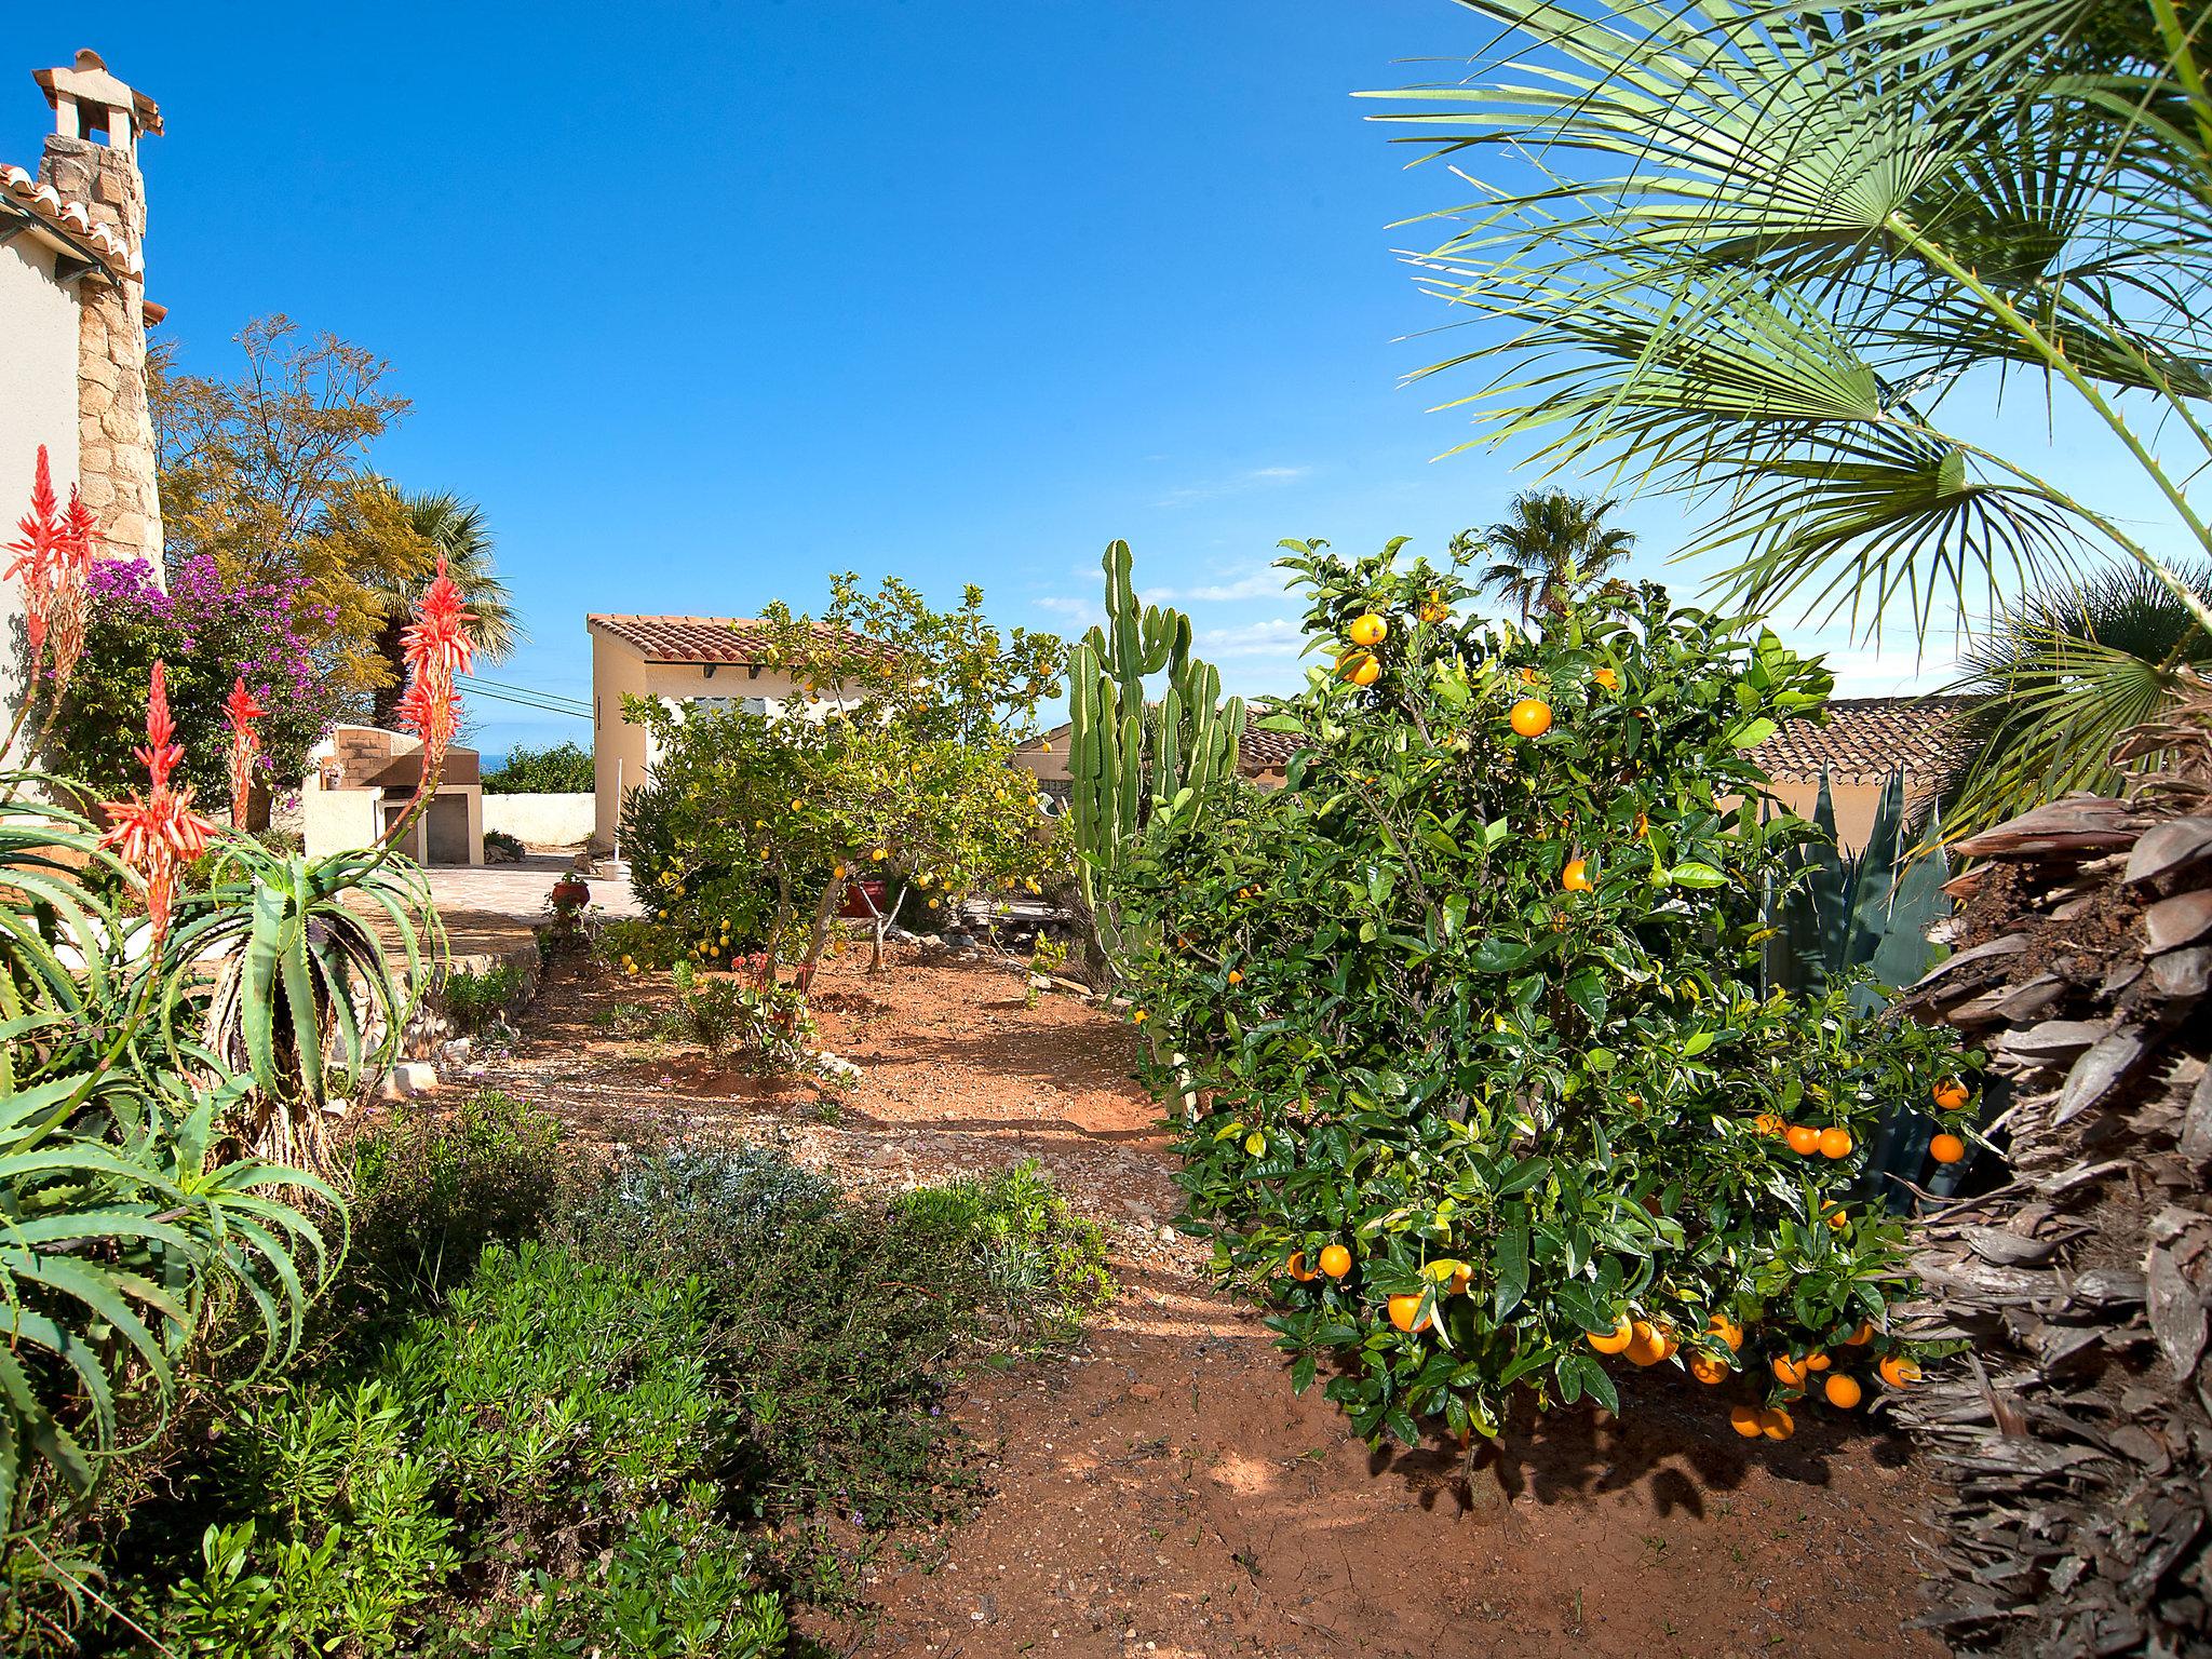
[[[593,845],[613,847],[622,796],[646,781],[659,754],[648,732],[622,714],[624,697],[659,697],[679,708],[748,708],[783,714],[830,708],[801,697],[790,672],[770,668],[759,617],[591,615]]]

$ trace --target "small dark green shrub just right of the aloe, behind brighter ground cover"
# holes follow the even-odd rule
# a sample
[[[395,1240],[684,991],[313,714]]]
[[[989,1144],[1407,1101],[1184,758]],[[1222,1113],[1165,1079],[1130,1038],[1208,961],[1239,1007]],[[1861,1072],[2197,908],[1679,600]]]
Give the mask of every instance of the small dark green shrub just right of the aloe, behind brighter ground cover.
[[[533,1234],[560,1192],[560,1124],[498,1091],[451,1115],[405,1106],[352,1146],[354,1281],[369,1296],[436,1296],[487,1243]]]

